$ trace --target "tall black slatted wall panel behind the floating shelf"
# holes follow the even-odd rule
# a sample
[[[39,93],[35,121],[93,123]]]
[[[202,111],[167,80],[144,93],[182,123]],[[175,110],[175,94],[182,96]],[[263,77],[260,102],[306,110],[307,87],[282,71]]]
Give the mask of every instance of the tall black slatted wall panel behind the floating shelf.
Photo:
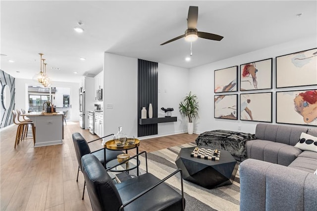
[[[138,119],[141,109],[149,104],[153,107],[153,118],[158,117],[158,62],[138,59]],[[138,124],[138,137],[158,134],[158,124]]]

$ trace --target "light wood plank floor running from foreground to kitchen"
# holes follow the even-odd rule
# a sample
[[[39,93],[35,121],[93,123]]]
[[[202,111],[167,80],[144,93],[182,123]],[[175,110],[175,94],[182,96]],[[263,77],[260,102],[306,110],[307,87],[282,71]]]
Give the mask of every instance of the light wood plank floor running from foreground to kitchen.
[[[0,210],[91,211],[87,191],[85,200],[81,200],[82,173],[79,173],[76,182],[78,163],[71,135],[80,132],[87,141],[98,137],[81,129],[78,123],[69,122],[64,127],[62,145],[34,148],[33,140],[29,139],[14,149],[16,129],[14,125],[0,134]],[[197,136],[184,133],[141,140],[139,152],[194,142]],[[99,141],[90,144],[92,151],[100,149],[100,146]]]

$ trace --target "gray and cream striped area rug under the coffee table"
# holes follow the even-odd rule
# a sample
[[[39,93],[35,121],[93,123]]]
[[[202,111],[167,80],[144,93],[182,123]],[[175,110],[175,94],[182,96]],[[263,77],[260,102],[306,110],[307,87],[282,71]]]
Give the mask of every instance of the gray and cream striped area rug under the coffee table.
[[[162,179],[177,169],[175,159],[181,148],[196,147],[195,144],[184,144],[152,153],[148,153],[148,171]],[[145,167],[145,158],[140,158],[140,168]],[[180,175],[171,177],[167,183],[180,190]],[[208,190],[184,180],[185,211],[239,211],[240,178],[239,171],[232,185]],[[180,193],[180,191],[179,191]]]

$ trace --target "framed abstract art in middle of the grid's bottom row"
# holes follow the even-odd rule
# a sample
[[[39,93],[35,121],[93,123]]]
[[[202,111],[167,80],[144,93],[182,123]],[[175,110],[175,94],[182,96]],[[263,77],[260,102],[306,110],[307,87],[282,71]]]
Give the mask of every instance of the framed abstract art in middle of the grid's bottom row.
[[[272,122],[272,93],[240,94],[240,120]]]

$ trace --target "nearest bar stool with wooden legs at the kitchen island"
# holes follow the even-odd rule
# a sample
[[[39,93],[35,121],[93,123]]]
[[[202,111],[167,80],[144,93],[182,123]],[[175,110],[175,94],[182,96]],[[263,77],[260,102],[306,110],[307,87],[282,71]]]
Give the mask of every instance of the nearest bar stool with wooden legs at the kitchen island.
[[[33,144],[35,145],[35,127],[34,127],[34,123],[32,121],[20,122],[19,119],[18,119],[18,112],[15,111],[15,110],[12,110],[12,113],[13,113],[13,123],[18,125],[18,128],[16,130],[14,149],[20,143],[20,141],[22,141],[24,139],[31,139],[31,138],[27,138],[28,134],[25,134],[25,128],[28,128],[29,125],[31,125],[31,127],[32,127]]]

